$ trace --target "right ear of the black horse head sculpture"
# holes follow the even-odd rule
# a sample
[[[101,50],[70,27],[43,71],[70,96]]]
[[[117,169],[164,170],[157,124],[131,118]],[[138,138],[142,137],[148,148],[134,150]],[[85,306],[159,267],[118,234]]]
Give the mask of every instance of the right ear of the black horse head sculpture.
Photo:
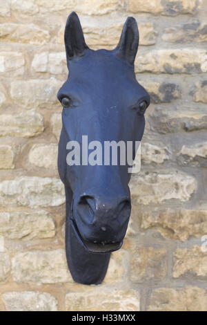
[[[115,54],[117,57],[124,59],[124,61],[133,65],[137,54],[137,48],[139,45],[139,30],[137,27],[137,21],[133,17],[128,17],[124,24],[119,39],[119,44],[115,48]]]

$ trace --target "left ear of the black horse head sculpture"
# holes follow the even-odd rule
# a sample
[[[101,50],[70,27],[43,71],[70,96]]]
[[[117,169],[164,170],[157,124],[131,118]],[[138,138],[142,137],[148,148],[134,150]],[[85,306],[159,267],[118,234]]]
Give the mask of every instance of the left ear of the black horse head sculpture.
[[[79,17],[75,12],[72,12],[68,16],[64,39],[68,62],[76,57],[83,56],[84,51],[88,48],[83,36],[83,30],[81,28]]]

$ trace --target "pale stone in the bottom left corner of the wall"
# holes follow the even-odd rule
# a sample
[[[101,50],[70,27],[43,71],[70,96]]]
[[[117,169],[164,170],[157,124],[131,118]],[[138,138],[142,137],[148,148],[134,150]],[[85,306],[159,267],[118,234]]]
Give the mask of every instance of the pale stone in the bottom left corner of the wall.
[[[7,311],[57,311],[57,299],[50,293],[13,291],[1,297]]]

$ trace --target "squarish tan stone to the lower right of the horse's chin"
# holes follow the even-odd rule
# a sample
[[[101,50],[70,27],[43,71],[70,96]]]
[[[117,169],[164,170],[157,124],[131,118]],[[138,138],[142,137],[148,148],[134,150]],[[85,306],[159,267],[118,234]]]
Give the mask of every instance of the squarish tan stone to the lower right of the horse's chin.
[[[137,248],[132,251],[130,279],[146,281],[164,279],[167,273],[166,250],[152,247]]]

